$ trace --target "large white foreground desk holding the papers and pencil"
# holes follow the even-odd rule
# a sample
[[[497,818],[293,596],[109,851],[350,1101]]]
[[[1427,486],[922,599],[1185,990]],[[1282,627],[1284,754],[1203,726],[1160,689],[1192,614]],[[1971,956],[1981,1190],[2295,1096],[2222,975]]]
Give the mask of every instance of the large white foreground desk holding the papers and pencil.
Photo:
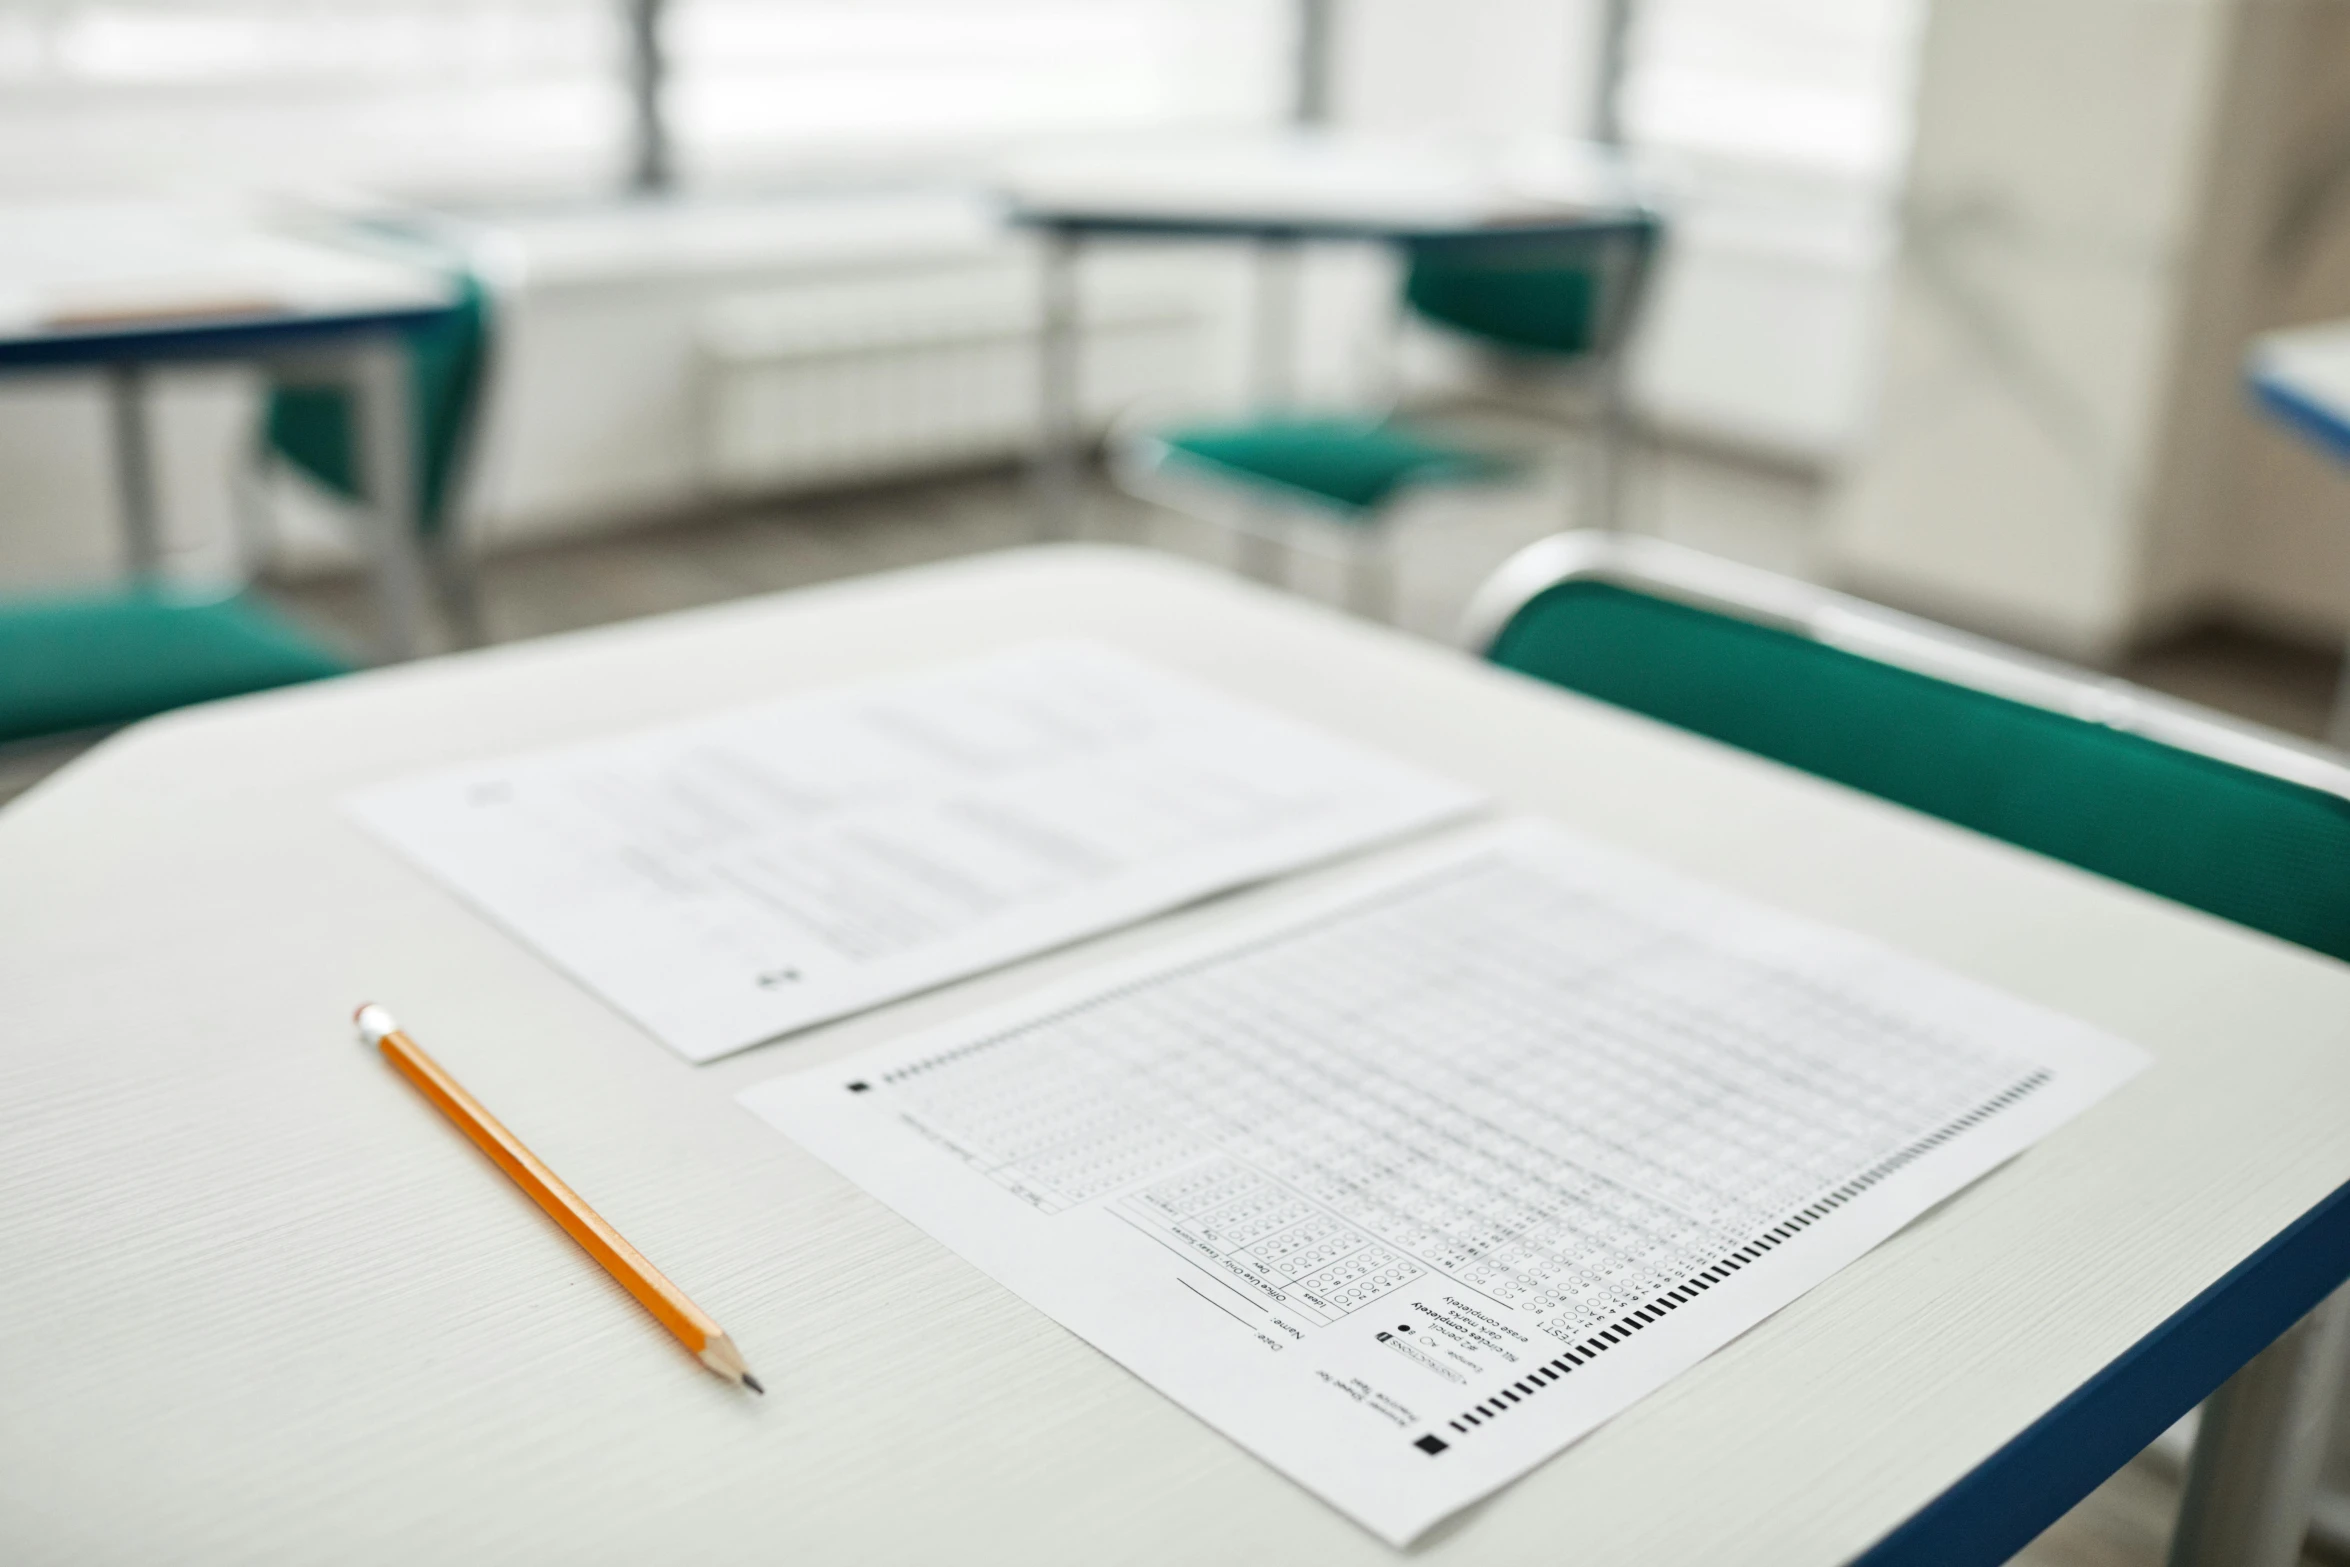
[[[1415,1558],[1988,1567],[2350,1276],[2350,968],[1194,566],[1025,550],[172,714],[0,811],[0,1555],[1394,1560],[731,1102],[1344,869],[689,1067],[336,808],[1039,634],[2155,1055]],[[360,1048],[362,998],[768,1398],[700,1372]],[[886,1330],[921,1346],[860,1358]]]

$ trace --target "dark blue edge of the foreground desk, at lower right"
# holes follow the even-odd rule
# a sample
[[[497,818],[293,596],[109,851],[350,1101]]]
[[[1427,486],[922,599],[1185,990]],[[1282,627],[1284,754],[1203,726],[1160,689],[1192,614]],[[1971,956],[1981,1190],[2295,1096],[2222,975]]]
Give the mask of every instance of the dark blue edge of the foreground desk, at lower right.
[[[2350,1280],[2350,1186],[2237,1264],[2113,1365],[1854,1558],[1998,1567]]]

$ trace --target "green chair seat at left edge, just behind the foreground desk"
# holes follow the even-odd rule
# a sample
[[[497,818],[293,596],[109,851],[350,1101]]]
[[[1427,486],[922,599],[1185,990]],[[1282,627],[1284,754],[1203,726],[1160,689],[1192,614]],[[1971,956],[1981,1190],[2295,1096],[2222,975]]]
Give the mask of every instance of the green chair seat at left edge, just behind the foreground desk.
[[[160,590],[0,599],[0,742],[110,728],[348,670],[254,599],[188,601]]]

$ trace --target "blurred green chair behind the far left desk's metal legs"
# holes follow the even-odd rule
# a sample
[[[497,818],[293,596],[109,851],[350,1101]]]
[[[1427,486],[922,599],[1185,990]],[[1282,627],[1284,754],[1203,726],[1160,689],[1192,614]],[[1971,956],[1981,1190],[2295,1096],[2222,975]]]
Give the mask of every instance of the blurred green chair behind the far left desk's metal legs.
[[[425,249],[400,235],[388,235],[385,244],[411,256]],[[428,249],[428,254],[439,265],[454,265],[444,251]],[[454,303],[446,317],[407,338],[409,418],[418,463],[416,526],[423,559],[458,637],[479,644],[482,611],[458,526],[458,496],[489,381],[489,287],[472,270],[456,268]],[[280,374],[268,390],[258,456],[261,468],[275,460],[343,500],[367,500],[357,418],[350,390],[343,385],[317,385]],[[409,641],[414,644],[414,634]]]

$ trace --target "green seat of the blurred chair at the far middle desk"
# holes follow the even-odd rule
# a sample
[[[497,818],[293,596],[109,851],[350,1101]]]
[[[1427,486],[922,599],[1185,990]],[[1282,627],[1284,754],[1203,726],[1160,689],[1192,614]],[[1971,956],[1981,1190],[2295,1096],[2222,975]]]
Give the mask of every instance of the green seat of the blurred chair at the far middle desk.
[[[1363,418],[1260,418],[1159,437],[1168,460],[1241,484],[1316,500],[1363,519],[1410,484],[1459,484],[1509,472],[1499,458]]]

